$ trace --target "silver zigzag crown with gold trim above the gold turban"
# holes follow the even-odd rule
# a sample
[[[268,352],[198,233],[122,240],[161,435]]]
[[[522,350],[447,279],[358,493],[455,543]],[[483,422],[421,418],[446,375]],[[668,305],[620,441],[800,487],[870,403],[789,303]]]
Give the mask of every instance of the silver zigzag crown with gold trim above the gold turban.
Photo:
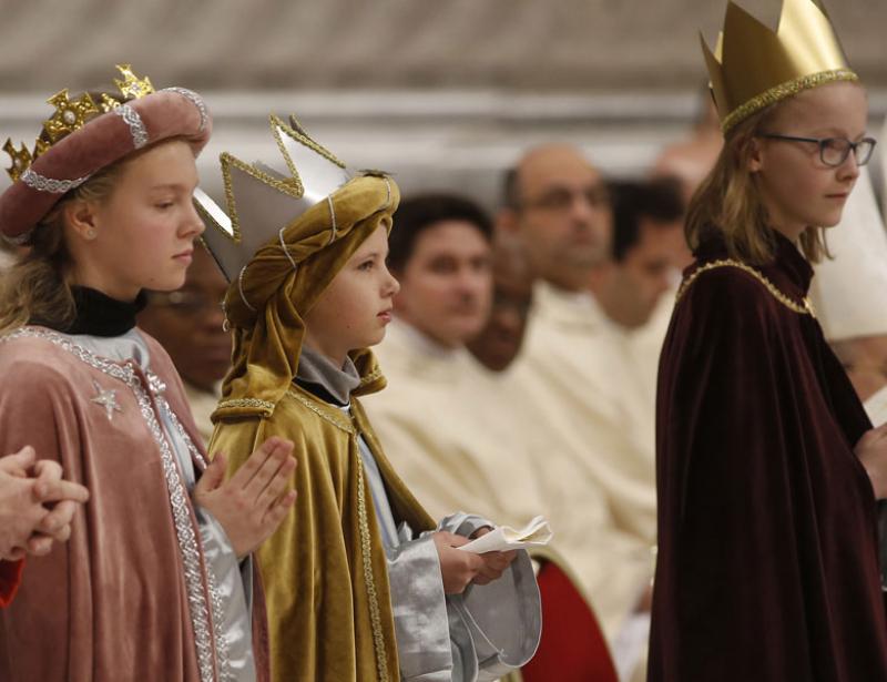
[[[276,162],[249,164],[227,152],[220,156],[226,210],[202,190],[194,193],[207,226],[203,242],[228,282],[262,246],[354,176],[295,118],[289,125],[276,115],[269,122],[281,152]]]

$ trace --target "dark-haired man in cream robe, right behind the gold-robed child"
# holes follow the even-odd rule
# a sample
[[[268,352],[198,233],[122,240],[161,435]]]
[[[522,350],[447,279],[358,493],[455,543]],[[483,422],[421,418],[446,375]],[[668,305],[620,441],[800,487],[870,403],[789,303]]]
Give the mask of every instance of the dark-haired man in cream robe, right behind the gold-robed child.
[[[492,302],[490,218],[455,195],[404,201],[388,263],[395,319],[375,348],[388,386],[365,407],[386,454],[432,516],[471,509],[502,523],[543,513],[527,448],[466,344]],[[503,408],[507,413],[508,408]]]

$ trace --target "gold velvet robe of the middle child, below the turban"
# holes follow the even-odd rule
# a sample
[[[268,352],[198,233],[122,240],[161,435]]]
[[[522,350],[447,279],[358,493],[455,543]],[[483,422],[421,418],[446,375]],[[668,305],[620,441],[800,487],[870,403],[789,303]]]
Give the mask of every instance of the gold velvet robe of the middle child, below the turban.
[[[358,434],[376,458],[395,521],[417,533],[436,527],[395,474],[354,397],[381,389],[385,379],[370,353],[354,359],[363,381],[353,394],[353,419],[293,385],[268,417],[218,419],[210,446],[226,452],[234,470],[271,436],[296,445],[295,508],[258,551],[272,678],[282,682],[399,678],[386,556]]]

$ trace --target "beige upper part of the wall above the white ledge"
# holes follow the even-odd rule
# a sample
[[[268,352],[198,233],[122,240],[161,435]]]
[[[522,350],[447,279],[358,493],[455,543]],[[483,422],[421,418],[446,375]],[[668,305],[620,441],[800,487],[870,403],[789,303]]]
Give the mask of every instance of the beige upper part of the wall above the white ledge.
[[[826,0],[887,86],[887,2]],[[742,0],[775,23],[778,0]],[[82,86],[131,61],[202,89],[693,88],[722,0],[0,0],[0,92]]]

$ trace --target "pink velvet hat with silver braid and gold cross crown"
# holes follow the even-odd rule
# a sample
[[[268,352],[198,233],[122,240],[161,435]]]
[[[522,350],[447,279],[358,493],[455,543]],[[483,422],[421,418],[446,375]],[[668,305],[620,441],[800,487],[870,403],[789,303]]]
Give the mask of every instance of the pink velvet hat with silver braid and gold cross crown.
[[[210,139],[212,119],[203,100],[184,88],[154,91],[129,64],[119,65],[115,83],[124,102],[90,94],[69,99],[62,90],[48,102],[55,112],[43,123],[33,152],[7,140],[12,157],[12,185],[0,195],[0,233],[8,242],[26,244],[35,225],[71,190],[91,175],[143,146],[181,136],[196,156]]]

